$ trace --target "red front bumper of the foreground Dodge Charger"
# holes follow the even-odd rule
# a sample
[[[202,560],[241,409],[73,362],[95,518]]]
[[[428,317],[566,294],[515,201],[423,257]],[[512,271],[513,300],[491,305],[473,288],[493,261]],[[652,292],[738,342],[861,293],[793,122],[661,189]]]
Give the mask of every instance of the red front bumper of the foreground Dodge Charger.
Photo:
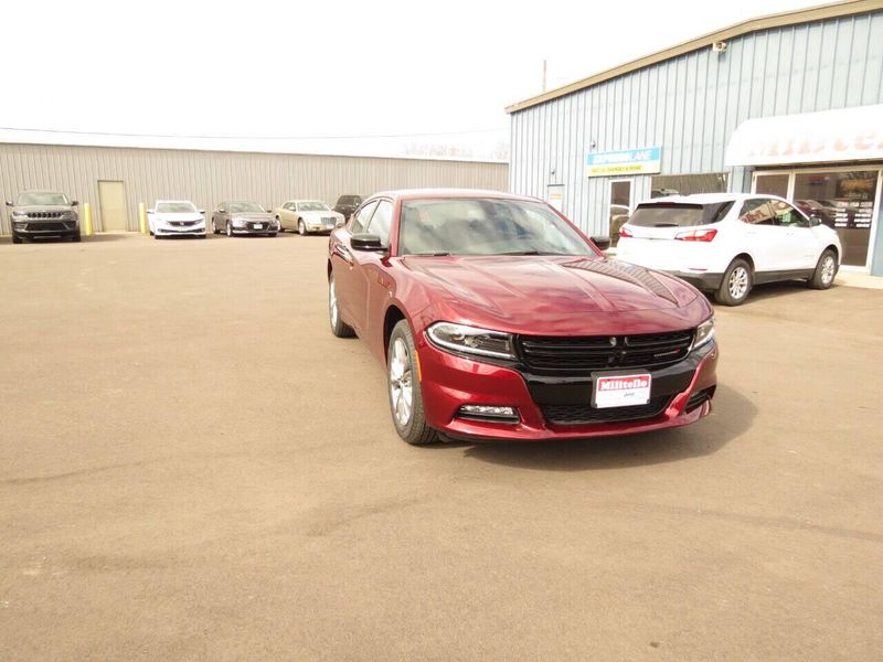
[[[425,338],[417,343],[417,354],[430,427],[455,438],[540,441],[629,435],[695,423],[711,412],[719,352],[711,341],[683,361],[650,371],[650,404],[617,412],[591,407],[589,375],[522,374],[443,352]],[[515,407],[519,419],[464,418],[458,412],[465,404]]]

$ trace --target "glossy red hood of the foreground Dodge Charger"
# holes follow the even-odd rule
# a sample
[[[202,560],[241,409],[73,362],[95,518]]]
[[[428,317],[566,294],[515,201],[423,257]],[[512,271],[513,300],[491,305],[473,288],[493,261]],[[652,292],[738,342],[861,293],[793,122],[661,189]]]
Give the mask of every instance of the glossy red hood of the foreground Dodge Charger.
[[[459,321],[533,334],[645,333],[693,327],[704,298],[664,274],[603,257],[403,258]],[[451,317],[445,314],[444,317]],[[451,320],[457,321],[457,320]]]

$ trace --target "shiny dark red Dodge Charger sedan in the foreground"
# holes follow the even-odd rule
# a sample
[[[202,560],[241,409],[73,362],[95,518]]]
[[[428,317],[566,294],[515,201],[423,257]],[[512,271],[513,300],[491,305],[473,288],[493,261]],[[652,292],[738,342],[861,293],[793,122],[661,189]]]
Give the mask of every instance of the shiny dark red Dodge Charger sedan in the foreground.
[[[716,384],[711,306],[682,280],[605,257],[606,242],[531,197],[379,193],[331,234],[331,330],[386,365],[409,444],[699,420]]]

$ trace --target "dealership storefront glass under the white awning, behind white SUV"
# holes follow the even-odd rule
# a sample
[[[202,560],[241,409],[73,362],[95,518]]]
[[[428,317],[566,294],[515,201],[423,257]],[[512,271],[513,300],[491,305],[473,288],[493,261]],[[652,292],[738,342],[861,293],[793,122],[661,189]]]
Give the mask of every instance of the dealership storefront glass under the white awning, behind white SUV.
[[[880,204],[879,167],[758,172],[754,192],[790,199],[807,216],[832,227],[843,246],[842,264],[868,267]]]

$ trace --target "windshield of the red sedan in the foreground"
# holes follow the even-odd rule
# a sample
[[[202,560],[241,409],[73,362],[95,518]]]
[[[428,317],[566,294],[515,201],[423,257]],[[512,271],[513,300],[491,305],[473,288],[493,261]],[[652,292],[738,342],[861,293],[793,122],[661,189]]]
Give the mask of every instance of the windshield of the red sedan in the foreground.
[[[400,255],[595,255],[542,203],[421,200],[402,205]]]

